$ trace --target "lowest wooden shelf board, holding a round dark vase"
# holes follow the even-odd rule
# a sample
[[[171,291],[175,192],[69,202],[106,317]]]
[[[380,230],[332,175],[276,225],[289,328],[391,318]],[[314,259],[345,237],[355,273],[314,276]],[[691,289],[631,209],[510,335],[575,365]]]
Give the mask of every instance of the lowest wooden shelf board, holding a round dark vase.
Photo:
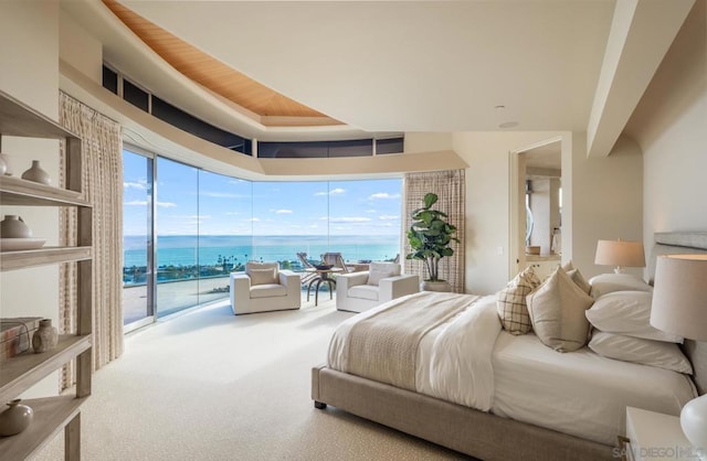
[[[34,411],[30,426],[22,432],[0,437],[0,453],[3,460],[23,460],[50,442],[64,426],[78,415],[87,397],[48,397],[22,400]]]

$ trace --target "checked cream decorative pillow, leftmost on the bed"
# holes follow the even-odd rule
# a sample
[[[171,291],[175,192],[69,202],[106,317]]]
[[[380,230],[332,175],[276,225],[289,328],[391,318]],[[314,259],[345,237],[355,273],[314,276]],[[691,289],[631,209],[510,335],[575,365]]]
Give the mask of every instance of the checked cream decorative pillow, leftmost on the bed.
[[[540,279],[528,267],[518,274],[506,285],[506,288],[496,293],[496,310],[504,329],[510,334],[526,334],[530,332],[532,324],[526,297],[540,286]]]

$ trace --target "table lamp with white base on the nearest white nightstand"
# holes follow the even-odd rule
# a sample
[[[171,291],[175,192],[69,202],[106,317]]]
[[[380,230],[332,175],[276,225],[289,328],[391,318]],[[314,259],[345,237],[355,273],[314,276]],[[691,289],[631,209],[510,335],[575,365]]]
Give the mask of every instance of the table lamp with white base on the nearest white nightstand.
[[[651,324],[688,340],[707,341],[707,255],[659,256],[655,267]],[[707,460],[707,395],[680,411],[680,427]]]

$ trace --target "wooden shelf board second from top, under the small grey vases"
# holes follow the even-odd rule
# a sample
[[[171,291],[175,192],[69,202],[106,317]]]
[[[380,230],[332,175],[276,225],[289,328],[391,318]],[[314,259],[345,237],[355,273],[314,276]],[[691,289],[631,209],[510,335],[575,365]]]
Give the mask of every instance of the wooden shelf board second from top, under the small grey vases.
[[[0,203],[29,206],[91,206],[78,192],[15,176],[0,176]]]

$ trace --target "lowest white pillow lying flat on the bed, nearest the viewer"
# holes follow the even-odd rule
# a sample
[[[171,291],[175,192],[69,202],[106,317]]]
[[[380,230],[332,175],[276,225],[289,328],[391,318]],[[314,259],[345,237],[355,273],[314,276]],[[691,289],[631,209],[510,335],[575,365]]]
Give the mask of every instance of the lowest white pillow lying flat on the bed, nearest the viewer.
[[[693,374],[693,366],[677,344],[595,331],[589,349],[604,357]]]

